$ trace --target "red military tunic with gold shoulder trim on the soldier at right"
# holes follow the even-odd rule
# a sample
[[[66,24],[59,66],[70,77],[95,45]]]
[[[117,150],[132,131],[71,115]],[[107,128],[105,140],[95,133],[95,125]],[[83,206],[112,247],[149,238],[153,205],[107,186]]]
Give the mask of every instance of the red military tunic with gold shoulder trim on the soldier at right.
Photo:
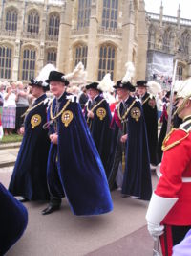
[[[179,198],[162,221],[168,225],[191,225],[191,117],[189,121],[174,129],[163,143],[155,193],[163,198]]]

